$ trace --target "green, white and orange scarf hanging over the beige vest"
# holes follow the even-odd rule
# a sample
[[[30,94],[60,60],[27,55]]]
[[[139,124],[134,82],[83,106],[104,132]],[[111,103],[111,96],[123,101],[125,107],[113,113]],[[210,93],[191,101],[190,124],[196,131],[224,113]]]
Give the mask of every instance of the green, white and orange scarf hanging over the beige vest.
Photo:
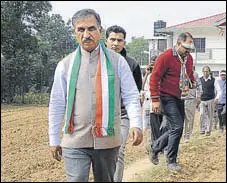
[[[115,107],[115,74],[107,49],[100,41],[100,51],[95,76],[96,121],[95,136],[114,136],[114,107]],[[104,54],[103,54],[104,52]],[[69,87],[67,90],[66,122],[64,133],[74,132],[74,111],[77,90],[77,80],[81,64],[81,48],[78,46],[76,57],[69,69]],[[81,104],[83,105],[83,104]]]

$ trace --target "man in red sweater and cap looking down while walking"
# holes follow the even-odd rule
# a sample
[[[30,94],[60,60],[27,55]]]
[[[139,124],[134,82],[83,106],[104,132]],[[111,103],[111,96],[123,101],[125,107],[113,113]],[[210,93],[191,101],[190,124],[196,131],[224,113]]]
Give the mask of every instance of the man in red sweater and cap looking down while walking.
[[[195,87],[193,58],[194,48],[190,33],[181,33],[174,48],[163,52],[155,63],[150,78],[152,109],[166,115],[169,130],[152,145],[153,163],[158,163],[158,153],[167,145],[167,168],[179,171],[177,154],[184,126],[184,99],[188,99],[189,87]]]

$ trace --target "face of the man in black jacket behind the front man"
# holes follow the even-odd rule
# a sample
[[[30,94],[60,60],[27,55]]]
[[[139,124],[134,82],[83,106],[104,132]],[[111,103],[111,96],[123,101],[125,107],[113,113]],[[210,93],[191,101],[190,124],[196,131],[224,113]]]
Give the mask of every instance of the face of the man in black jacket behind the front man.
[[[120,53],[125,46],[124,34],[111,32],[106,39],[106,47]]]

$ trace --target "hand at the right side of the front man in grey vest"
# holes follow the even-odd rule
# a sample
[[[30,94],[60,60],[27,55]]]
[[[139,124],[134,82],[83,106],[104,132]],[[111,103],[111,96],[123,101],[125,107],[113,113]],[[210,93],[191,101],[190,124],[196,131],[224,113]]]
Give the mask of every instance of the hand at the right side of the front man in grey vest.
[[[139,128],[131,128],[129,131],[129,140],[132,142],[133,146],[139,145],[143,141],[143,133]]]

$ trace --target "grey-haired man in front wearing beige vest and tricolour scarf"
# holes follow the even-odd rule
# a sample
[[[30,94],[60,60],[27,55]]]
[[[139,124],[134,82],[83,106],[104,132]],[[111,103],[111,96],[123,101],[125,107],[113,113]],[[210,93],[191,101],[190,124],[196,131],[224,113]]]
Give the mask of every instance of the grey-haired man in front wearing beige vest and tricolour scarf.
[[[49,103],[50,149],[53,157],[59,161],[63,153],[67,181],[87,182],[92,164],[94,181],[113,182],[121,145],[121,97],[130,119],[132,145],[139,145],[143,138],[139,92],[126,60],[106,49],[100,42],[102,27],[99,15],[92,9],[83,9],[75,13],[72,23],[79,47],[60,61],[55,71]],[[97,65],[101,65],[101,73]],[[73,70],[74,66],[77,70]],[[107,72],[109,70],[111,74]],[[97,79],[100,74],[101,83]],[[72,75],[75,75],[76,79]],[[75,82],[75,89],[70,90],[70,86]],[[113,84],[114,87],[108,87]],[[97,106],[97,102],[100,103],[100,100],[97,100],[97,96],[100,96],[97,88],[102,91],[101,107]],[[71,95],[74,92],[75,95]],[[113,95],[106,95],[108,93]],[[73,110],[68,110],[71,107]],[[113,116],[111,120],[101,114],[102,124],[107,121],[113,125],[110,134],[109,127],[99,126],[100,121],[96,119],[100,114],[97,114],[97,110]],[[114,112],[108,113],[109,111]],[[60,140],[65,114],[64,133]],[[101,130],[101,134],[97,129]]]

